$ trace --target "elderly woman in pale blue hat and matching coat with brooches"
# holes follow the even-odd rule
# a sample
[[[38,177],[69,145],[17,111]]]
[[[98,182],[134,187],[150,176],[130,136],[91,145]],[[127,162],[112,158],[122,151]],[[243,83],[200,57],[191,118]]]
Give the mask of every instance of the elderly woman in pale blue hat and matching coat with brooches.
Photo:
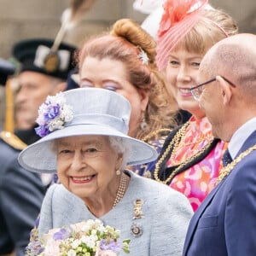
[[[154,148],[127,136],[130,103],[96,88],[49,97],[39,108],[43,138],[20,153],[32,172],[55,172],[44,198],[39,237],[84,219],[100,218],[130,239],[131,255],[181,255],[192,216],[186,197],[124,170],[154,160]]]

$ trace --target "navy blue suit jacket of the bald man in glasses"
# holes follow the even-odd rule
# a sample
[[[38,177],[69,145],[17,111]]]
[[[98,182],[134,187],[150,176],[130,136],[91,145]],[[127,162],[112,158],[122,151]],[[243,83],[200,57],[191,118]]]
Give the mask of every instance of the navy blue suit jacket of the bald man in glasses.
[[[238,154],[254,144],[256,131]],[[256,150],[234,167],[195,212],[183,247],[185,255],[256,255]]]

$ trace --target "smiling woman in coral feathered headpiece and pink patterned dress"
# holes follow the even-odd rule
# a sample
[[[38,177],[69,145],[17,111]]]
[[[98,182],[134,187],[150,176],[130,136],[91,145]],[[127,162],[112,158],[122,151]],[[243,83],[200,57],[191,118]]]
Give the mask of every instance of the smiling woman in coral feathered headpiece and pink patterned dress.
[[[213,44],[237,32],[235,20],[207,2],[167,0],[156,49],[157,65],[166,73],[167,90],[179,108],[192,117],[166,138],[155,164],[154,179],[186,195],[194,210],[214,188],[227,147],[212,136],[212,126],[196,101],[202,85],[214,81],[196,87],[198,70]]]

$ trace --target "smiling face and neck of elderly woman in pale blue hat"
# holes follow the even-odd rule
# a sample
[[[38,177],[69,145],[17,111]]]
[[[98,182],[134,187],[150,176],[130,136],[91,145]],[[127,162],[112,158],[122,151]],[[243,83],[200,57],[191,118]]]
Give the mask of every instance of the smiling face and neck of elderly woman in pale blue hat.
[[[57,170],[61,183],[82,198],[96,217],[101,216],[95,207],[97,201],[104,202],[107,210],[113,207],[120,183],[116,172],[123,166],[123,151],[129,152],[124,148],[122,151],[113,148],[111,141],[117,142],[117,138],[84,136],[64,137],[56,141]]]

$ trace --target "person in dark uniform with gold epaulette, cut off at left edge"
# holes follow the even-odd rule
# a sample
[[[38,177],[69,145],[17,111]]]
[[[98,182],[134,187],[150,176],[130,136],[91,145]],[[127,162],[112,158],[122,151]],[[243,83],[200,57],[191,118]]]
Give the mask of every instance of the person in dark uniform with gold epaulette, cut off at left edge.
[[[15,67],[0,59],[0,84],[4,86]],[[3,111],[3,109],[0,109]],[[27,172],[18,163],[25,148],[8,131],[0,133],[0,255],[24,255],[29,233],[44,198],[44,186],[36,173]]]

